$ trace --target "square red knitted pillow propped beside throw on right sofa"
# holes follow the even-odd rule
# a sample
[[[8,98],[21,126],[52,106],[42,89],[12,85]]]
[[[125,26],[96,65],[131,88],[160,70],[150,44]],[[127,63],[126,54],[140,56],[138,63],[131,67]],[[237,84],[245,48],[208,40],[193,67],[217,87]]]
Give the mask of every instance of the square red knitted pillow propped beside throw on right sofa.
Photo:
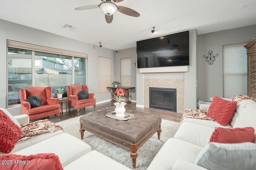
[[[222,126],[228,125],[236,109],[236,102],[231,102],[214,96],[206,113]]]

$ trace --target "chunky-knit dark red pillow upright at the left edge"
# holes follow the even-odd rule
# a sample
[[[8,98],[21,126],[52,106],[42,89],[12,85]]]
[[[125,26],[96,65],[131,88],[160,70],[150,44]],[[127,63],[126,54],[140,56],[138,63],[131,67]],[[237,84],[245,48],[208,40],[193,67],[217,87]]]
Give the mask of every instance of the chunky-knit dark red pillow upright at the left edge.
[[[11,152],[21,135],[20,127],[4,111],[0,110],[0,151],[4,153]]]

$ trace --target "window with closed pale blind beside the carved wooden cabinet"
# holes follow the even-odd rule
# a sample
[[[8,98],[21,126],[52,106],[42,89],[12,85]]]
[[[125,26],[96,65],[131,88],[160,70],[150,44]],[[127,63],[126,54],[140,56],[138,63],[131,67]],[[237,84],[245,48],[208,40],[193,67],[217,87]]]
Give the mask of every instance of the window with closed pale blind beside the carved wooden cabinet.
[[[247,95],[247,55],[239,43],[223,46],[223,97]]]

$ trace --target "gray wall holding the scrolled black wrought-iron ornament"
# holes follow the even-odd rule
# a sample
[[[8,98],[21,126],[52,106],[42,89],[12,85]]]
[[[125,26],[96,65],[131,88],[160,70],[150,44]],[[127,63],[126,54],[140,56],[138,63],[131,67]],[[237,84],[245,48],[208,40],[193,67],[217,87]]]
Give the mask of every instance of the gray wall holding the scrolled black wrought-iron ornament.
[[[213,96],[223,97],[223,45],[249,42],[256,37],[256,25],[228,29],[198,35],[198,97],[209,101]],[[212,50],[216,57],[213,65],[208,65],[203,55]]]

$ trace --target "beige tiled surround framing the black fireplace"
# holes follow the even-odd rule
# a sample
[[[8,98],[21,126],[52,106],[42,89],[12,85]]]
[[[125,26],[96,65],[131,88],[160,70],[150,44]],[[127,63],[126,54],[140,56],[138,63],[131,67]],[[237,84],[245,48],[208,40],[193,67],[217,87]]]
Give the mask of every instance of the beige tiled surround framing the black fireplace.
[[[177,113],[184,112],[184,79],[153,79],[144,78],[144,107],[149,108],[149,87],[176,88]]]

